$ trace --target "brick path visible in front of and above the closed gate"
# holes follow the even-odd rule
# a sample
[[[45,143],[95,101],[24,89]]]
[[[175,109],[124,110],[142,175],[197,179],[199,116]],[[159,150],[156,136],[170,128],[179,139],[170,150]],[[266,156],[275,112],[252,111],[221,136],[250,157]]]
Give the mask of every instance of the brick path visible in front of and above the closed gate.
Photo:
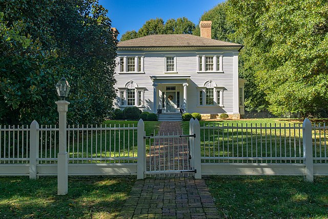
[[[159,132],[181,131],[180,122],[162,122]],[[219,218],[205,182],[192,177],[138,180],[118,218]]]

